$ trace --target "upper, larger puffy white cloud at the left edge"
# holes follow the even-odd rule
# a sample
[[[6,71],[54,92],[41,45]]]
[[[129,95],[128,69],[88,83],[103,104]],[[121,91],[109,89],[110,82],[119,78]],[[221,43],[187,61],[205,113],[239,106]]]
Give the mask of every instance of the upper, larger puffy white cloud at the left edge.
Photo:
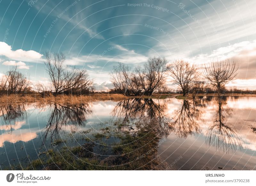
[[[12,50],[12,46],[4,42],[0,42],[0,56],[1,55],[10,59],[29,62],[36,62],[36,60],[42,60],[41,57],[43,56],[42,54],[34,50]]]

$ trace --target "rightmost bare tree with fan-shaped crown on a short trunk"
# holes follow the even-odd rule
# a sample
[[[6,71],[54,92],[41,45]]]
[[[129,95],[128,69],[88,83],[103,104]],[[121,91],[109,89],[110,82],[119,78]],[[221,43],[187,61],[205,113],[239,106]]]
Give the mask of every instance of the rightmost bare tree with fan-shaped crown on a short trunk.
[[[229,81],[233,80],[237,75],[238,66],[229,59],[211,62],[209,66],[204,65],[204,78],[207,79],[218,90],[220,96],[221,86],[225,86]]]

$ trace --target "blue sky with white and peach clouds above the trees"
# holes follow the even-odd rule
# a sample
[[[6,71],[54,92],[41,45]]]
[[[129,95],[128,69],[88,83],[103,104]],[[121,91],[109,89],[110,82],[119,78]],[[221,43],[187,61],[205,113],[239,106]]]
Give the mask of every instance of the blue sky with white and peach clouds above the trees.
[[[230,59],[239,69],[227,87],[254,90],[255,9],[254,0],[0,0],[0,75],[17,65],[33,84],[48,83],[43,53],[61,51],[108,90],[118,62]]]

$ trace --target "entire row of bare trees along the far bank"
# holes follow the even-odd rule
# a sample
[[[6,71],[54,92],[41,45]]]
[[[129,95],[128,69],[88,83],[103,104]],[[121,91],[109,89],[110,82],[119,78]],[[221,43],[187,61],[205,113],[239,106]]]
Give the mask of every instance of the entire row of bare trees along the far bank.
[[[49,75],[49,85],[38,83],[34,89],[38,92],[51,94],[86,94],[93,91],[93,79],[89,78],[86,69],[71,68],[65,64],[63,53],[44,52],[46,72]],[[165,91],[167,78],[180,87],[183,96],[189,92],[207,92],[215,89],[220,96],[221,89],[237,75],[235,62],[216,61],[208,66],[202,66],[202,73],[195,64],[184,60],[176,60],[168,64],[165,58],[148,58],[143,67],[133,71],[122,63],[114,66],[111,82],[118,92],[124,95],[152,95],[153,92]],[[28,77],[13,66],[1,79],[0,93],[25,93],[31,89]]]

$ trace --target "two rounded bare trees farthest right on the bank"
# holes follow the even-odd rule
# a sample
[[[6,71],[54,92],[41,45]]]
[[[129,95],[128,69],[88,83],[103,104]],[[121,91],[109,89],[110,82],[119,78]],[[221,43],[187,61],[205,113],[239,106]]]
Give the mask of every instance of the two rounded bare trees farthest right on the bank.
[[[183,96],[188,92],[207,93],[214,89],[220,96],[221,89],[225,89],[225,85],[236,77],[238,70],[236,63],[228,59],[205,64],[202,73],[195,64],[183,60],[176,60],[168,68],[172,81],[179,85]]]

